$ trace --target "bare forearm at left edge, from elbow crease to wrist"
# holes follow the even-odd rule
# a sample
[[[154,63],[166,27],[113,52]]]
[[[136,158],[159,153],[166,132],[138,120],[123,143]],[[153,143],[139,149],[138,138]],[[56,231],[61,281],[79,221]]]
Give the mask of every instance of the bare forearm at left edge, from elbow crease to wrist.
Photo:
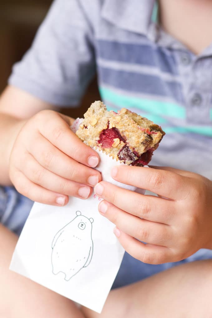
[[[26,120],[0,113],[0,185],[11,185],[9,177],[10,152]]]

